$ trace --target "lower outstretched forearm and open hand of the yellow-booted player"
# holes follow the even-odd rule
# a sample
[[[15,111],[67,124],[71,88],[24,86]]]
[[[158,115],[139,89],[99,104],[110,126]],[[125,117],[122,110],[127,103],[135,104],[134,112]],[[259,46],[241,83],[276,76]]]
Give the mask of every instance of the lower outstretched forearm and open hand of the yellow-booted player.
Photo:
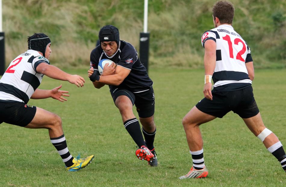
[[[65,97],[69,97],[70,95],[68,95],[68,91],[63,91],[63,90],[59,90],[61,89],[62,85],[55,87],[52,90],[42,90],[42,89],[36,89],[35,92],[33,93],[33,95],[31,96],[31,99],[45,99],[45,98],[53,98],[53,99],[57,99],[61,102],[67,101]]]

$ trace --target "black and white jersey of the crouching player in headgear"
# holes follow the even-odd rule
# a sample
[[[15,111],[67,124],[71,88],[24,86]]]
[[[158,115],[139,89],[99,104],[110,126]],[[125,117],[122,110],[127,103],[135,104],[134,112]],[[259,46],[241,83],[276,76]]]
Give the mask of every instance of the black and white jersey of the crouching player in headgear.
[[[50,64],[47,58],[35,50],[17,56],[0,79],[0,101],[27,104],[44,76],[36,71],[40,63]]]

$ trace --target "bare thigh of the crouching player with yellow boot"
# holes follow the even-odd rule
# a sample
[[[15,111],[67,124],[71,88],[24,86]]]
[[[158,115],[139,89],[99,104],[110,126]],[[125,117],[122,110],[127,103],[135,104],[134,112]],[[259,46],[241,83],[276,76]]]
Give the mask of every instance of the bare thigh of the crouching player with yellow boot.
[[[52,112],[37,107],[33,120],[25,127],[30,129],[49,129],[53,126],[61,126],[61,118]]]

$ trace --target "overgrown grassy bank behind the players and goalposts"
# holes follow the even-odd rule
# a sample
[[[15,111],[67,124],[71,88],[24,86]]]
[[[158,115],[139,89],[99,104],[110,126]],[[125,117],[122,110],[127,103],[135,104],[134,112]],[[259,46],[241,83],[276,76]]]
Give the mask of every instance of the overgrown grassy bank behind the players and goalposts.
[[[149,0],[151,67],[203,67],[201,35],[213,28],[214,0]],[[286,1],[232,0],[233,26],[251,48],[255,67],[286,67]],[[6,65],[27,49],[26,37],[52,40],[51,63],[89,67],[99,29],[113,24],[139,49],[143,0],[4,0]]]

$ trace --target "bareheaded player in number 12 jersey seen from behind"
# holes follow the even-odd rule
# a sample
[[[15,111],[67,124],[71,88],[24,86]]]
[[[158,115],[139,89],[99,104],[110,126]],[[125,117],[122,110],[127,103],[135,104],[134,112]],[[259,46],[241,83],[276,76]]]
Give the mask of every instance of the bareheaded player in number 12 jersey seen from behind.
[[[213,6],[215,28],[202,36],[205,48],[205,85],[201,101],[186,114],[182,123],[192,156],[192,167],[188,174],[179,177],[202,178],[208,175],[204,165],[203,140],[199,125],[222,118],[229,111],[237,113],[250,131],[257,136],[286,170],[286,155],[281,142],[267,129],[261,119],[252,92],[254,78],[250,48],[232,27],[234,7],[227,1]],[[214,86],[212,89],[211,79]]]

